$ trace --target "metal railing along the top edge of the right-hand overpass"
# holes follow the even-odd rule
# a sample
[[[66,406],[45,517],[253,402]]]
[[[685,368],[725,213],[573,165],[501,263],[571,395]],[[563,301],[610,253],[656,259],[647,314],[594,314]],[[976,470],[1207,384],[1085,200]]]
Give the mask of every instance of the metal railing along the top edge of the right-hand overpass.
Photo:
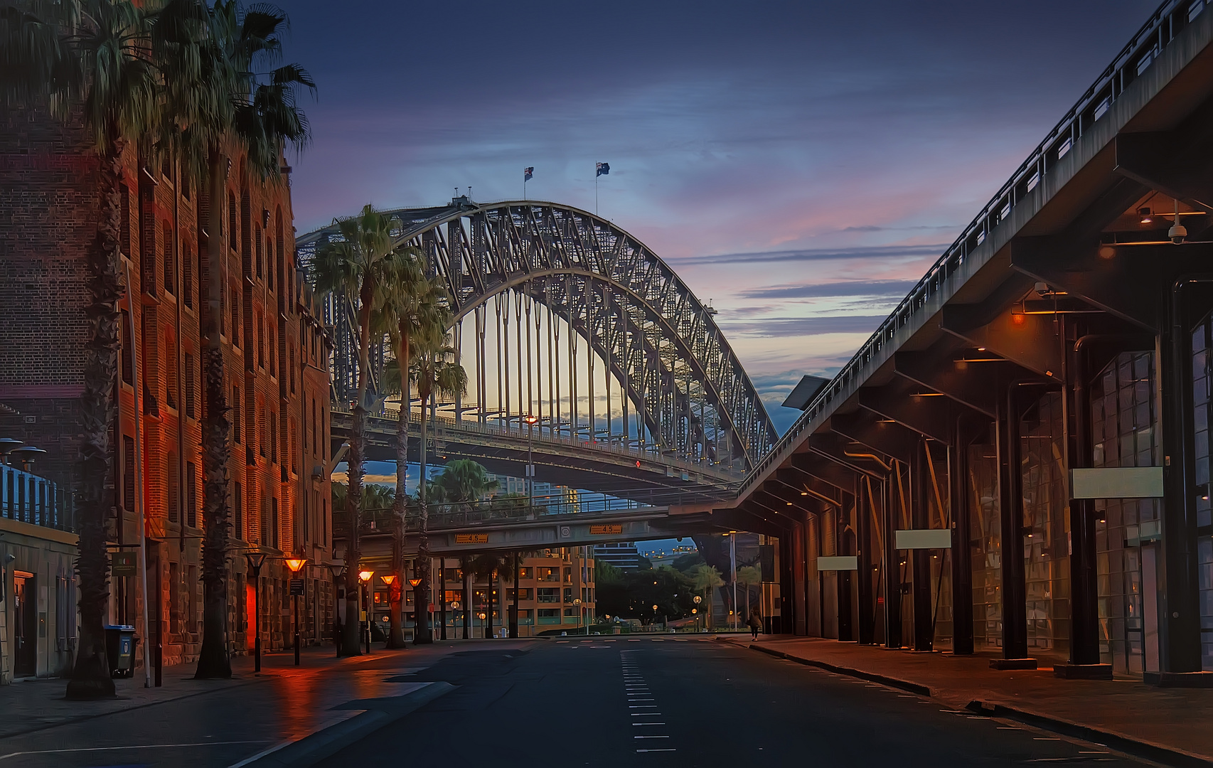
[[[847,362],[828,385],[813,399],[771,450],[754,466],[741,484],[738,497],[761,478],[771,465],[780,463],[784,454],[796,439],[813,426],[830,403],[860,379],[861,371],[872,363],[898,331],[910,325],[916,313],[939,294],[949,279],[959,269],[964,260],[981,246],[990,233],[1010,216],[1015,205],[1033,192],[1057,163],[1101,118],[1124,89],[1140,76],[1157,59],[1180,29],[1192,22],[1213,0],[1166,0],[1141,25],[1129,42],[1121,49],[1112,63],[1083,92],[1074,107],[1049,131],[1036,149],[1007,180],[993,198],[981,209],[956,241],[927,271],[927,274],[910,290],[881,326]]]

